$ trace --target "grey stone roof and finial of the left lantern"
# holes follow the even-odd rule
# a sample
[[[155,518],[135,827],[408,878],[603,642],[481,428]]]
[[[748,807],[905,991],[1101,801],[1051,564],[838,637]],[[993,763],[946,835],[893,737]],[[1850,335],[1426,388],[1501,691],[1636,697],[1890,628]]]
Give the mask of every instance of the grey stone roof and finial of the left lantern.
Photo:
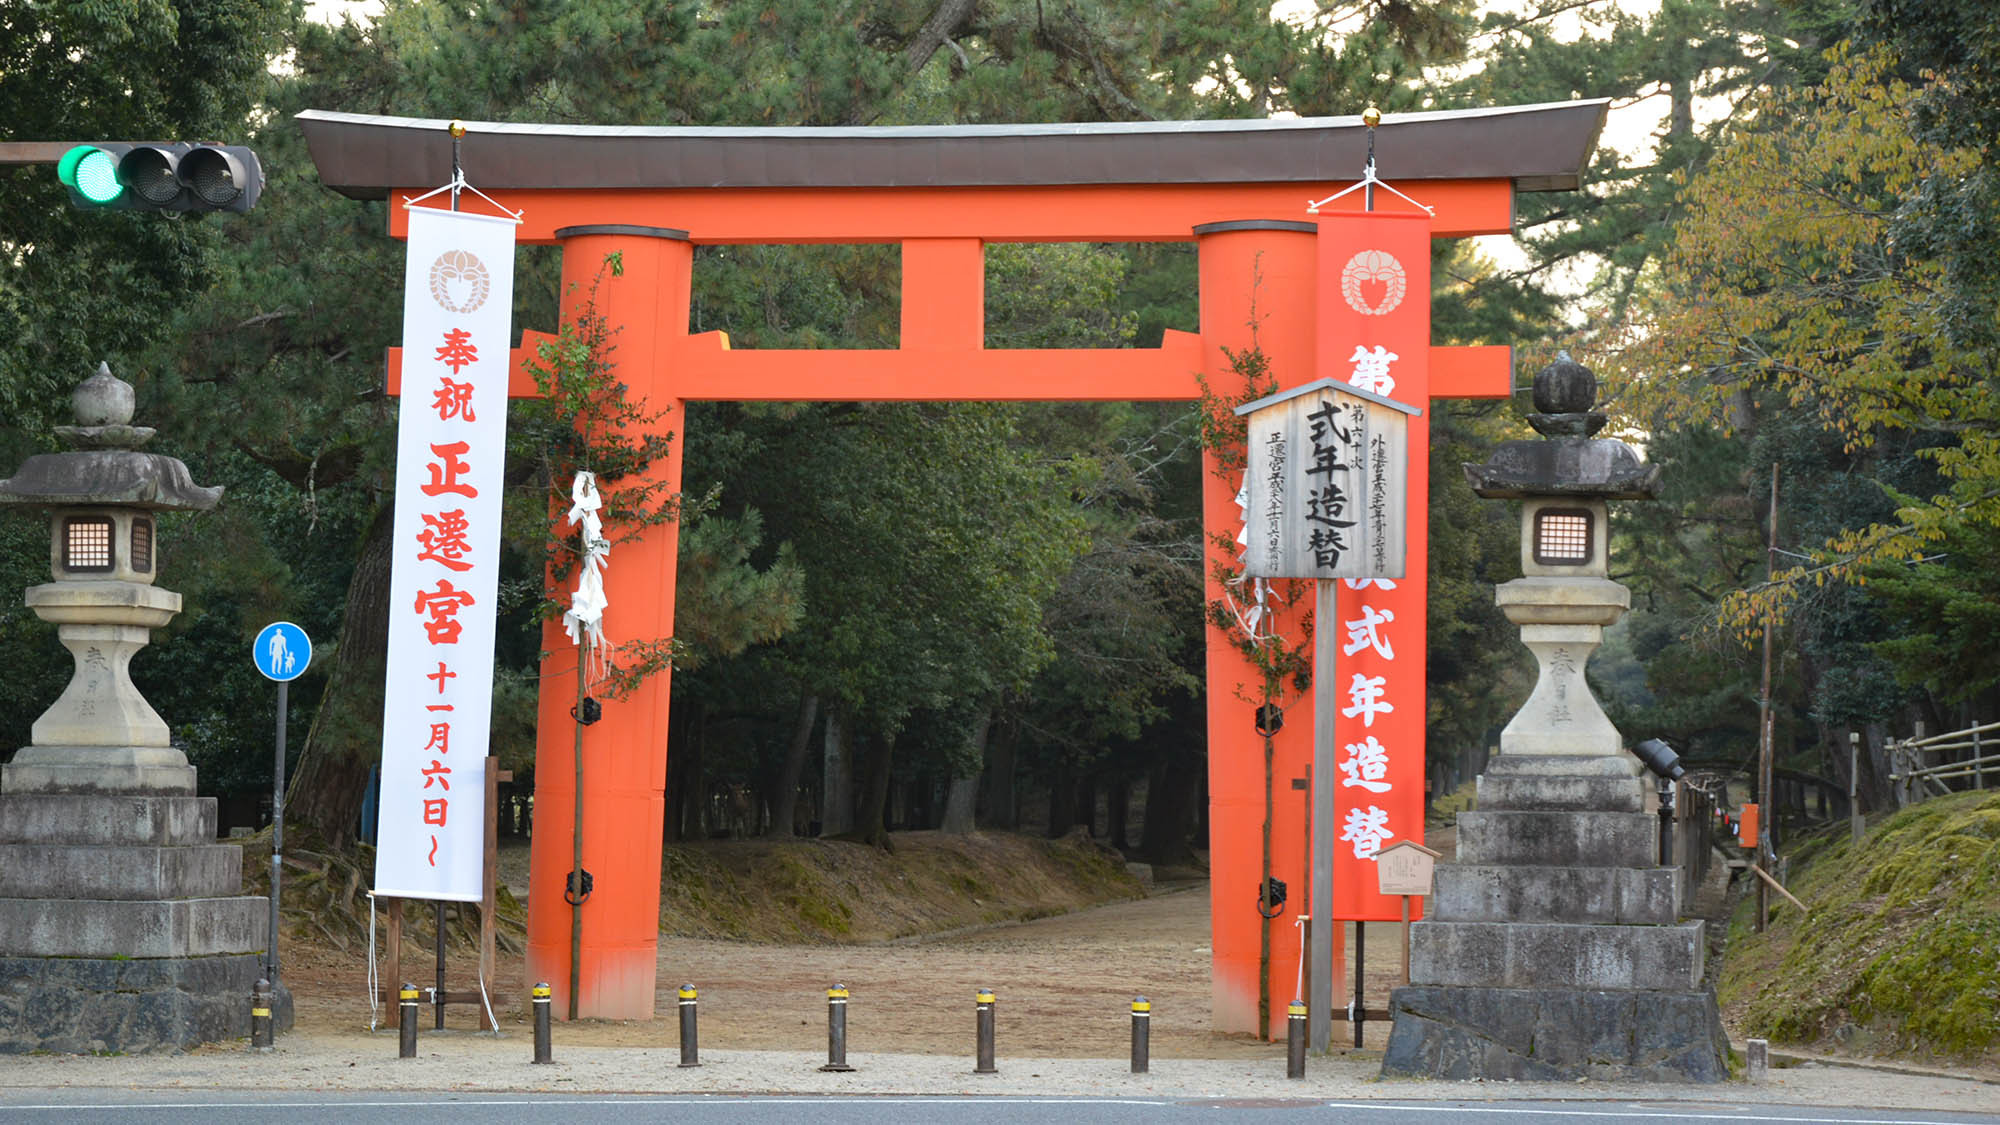
[[[30,456],[0,480],[0,504],[208,510],[222,500],[222,488],[196,484],[180,458],[138,450],[154,430],[132,424],[132,384],[112,374],[110,364],[98,364],[70,402],[76,424],[56,426],[56,436],[76,448]]]

